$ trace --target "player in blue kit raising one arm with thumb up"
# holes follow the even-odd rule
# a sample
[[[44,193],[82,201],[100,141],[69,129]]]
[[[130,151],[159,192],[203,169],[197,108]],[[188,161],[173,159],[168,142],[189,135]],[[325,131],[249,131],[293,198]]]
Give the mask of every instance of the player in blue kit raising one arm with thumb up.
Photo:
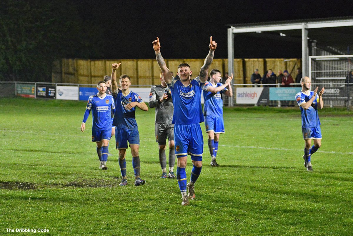
[[[131,148],[132,167],[135,175],[135,186],[145,184],[140,178],[140,157],[138,149],[140,146],[140,135],[135,118],[136,107],[142,111],[148,111],[148,107],[137,93],[130,91],[131,79],[127,75],[119,78],[120,89],[116,82],[116,69],[120,63],[112,64],[112,93],[115,98],[116,109],[113,118],[115,128],[116,149],[119,150],[119,166],[122,180],[120,186],[127,185],[125,153],[127,142]]]

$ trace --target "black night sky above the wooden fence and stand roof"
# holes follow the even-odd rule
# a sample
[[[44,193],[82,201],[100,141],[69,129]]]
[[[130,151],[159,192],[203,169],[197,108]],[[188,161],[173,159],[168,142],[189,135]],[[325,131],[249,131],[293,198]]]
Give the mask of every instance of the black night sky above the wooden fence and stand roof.
[[[299,3],[300,2],[300,3]],[[80,18],[97,24],[97,58],[204,58],[209,36],[215,58],[227,58],[227,24],[353,16],[353,1],[77,1]],[[235,58],[300,58],[301,43],[235,37]]]

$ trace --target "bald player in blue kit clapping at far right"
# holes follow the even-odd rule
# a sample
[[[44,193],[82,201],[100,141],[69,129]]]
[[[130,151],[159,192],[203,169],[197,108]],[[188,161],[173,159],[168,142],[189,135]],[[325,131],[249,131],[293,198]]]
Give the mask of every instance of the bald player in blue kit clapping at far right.
[[[301,111],[301,130],[305,140],[304,166],[307,171],[312,171],[311,155],[321,147],[321,123],[317,109],[322,109],[324,106],[322,94],[325,92],[325,88],[323,87],[319,94],[317,94],[318,87],[314,91],[310,91],[311,79],[306,76],[301,78],[300,83],[301,91],[295,95],[295,99]],[[311,139],[314,140],[314,145],[310,148]]]

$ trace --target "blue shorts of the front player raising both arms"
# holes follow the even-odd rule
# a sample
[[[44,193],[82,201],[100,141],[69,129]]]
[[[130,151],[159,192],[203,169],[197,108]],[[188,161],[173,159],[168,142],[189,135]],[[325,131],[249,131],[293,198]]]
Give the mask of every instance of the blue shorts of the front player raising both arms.
[[[191,155],[191,160],[202,161],[203,136],[200,124],[174,125],[175,155],[185,157]]]

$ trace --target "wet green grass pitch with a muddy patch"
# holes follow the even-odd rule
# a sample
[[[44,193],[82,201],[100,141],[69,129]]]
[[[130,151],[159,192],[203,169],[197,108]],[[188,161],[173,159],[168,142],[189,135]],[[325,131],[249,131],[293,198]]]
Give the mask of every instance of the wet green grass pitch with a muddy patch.
[[[0,235],[353,235],[353,112],[319,111],[322,147],[310,173],[299,108],[225,108],[221,166],[209,166],[204,132],[196,200],[184,207],[177,181],[160,178],[153,109],[136,113],[147,182],[133,185],[128,149],[129,185],[119,187],[114,142],[108,170],[98,170],[91,115],[79,129],[85,102],[0,104]]]

